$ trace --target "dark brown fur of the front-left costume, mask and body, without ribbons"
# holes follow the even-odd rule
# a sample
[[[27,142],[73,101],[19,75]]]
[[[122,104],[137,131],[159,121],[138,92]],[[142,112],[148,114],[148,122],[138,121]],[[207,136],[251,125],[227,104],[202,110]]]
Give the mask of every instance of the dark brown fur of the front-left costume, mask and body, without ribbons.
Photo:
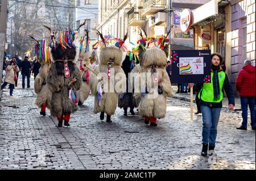
[[[73,47],[63,49],[60,44],[52,48],[51,54],[55,61],[47,76],[48,87],[52,92],[51,115],[58,118],[59,121],[65,120],[65,115],[69,115],[77,110],[75,102],[69,99],[69,90],[77,91],[81,87],[80,71],[72,62],[76,57],[77,50]],[[65,77],[64,58],[68,61],[69,77]],[[72,79],[76,78],[76,82]],[[63,118],[64,115],[64,118]],[[69,121],[69,116],[67,117]]]

